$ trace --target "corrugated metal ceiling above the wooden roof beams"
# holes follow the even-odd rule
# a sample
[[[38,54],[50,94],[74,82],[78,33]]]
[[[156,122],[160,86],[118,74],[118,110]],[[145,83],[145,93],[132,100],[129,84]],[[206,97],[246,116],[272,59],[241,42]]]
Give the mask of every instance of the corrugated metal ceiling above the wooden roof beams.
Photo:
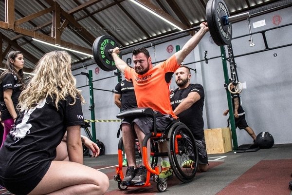
[[[208,0],[148,1],[188,28],[197,26],[206,20],[205,7]],[[234,15],[277,1],[279,0],[225,0],[225,3],[230,15]],[[54,0],[15,0],[15,19],[18,20],[50,8],[52,2],[54,3]],[[83,26],[93,38],[109,34],[122,46],[178,31],[129,0],[55,0],[55,2],[60,5],[62,10],[70,14],[80,26]],[[86,4],[89,4],[89,6],[76,11],[79,6]],[[53,14],[50,12],[20,26],[27,30],[34,29],[36,33],[51,36],[52,19]],[[5,0],[0,0],[0,21],[5,21]],[[61,19],[61,23],[63,21],[64,18]],[[38,30],[36,30],[37,28]],[[78,27],[69,22],[69,25],[61,34],[61,40],[91,49],[92,39],[80,34],[79,31]],[[35,67],[36,60],[44,53],[55,50],[52,46],[33,41],[32,37],[19,35],[12,30],[0,28],[0,32],[5,38],[8,38],[8,40],[3,39],[2,54],[6,55],[7,50],[25,50],[24,57],[27,59],[25,68],[28,70]],[[12,43],[17,43],[19,47]],[[70,54],[73,62],[88,59],[88,56],[85,55],[72,52]],[[6,61],[6,56],[3,57],[2,63]]]

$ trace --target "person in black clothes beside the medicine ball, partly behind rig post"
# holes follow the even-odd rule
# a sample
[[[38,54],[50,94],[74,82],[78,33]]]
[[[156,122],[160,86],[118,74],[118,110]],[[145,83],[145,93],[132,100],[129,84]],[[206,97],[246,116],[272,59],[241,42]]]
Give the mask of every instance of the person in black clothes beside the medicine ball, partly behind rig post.
[[[234,84],[232,83],[230,85],[230,90],[235,91]],[[253,143],[256,144],[256,134],[254,130],[248,126],[246,120],[245,120],[245,112],[241,106],[241,98],[239,94],[231,94],[232,98],[232,104],[234,109],[234,119],[235,119],[235,128],[244,129],[250,137],[253,138]],[[227,109],[223,115],[226,116],[229,113],[229,109]],[[229,127],[229,120],[228,120],[228,127]]]

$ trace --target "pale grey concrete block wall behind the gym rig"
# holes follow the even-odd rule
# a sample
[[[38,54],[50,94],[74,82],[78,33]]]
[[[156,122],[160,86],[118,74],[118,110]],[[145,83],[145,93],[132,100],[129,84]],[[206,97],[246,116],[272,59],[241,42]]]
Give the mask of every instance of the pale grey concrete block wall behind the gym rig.
[[[278,10],[262,16],[250,19],[252,32],[270,29],[276,26],[290,23],[292,21],[292,7]],[[278,24],[273,20],[281,19]],[[263,22],[263,20],[265,22]],[[256,27],[258,21],[265,25]],[[274,21],[274,23],[273,23]],[[256,27],[256,28],[255,28]],[[246,35],[249,33],[247,20],[233,24],[233,37]],[[266,32],[268,45],[270,48],[292,43],[292,26],[279,28]],[[167,59],[176,51],[176,45],[183,47],[190,37],[172,40],[163,44],[148,48],[152,61]],[[234,55],[242,55],[265,49],[261,34],[253,35],[254,47],[249,46],[249,36],[234,39],[232,41]],[[173,52],[167,52],[167,46],[173,46]],[[226,52],[227,52],[227,47]],[[210,34],[206,34],[200,45],[184,60],[184,64],[204,59],[204,51],[207,58],[220,56],[220,47],[213,43]],[[228,54],[227,54],[228,55]],[[123,59],[131,58],[131,54],[124,55]],[[292,143],[292,46],[268,50],[256,54],[250,54],[235,58],[237,63],[237,74],[240,82],[246,82],[246,89],[241,93],[243,108],[246,112],[246,120],[252,127],[256,135],[262,131],[269,131],[275,144]],[[191,63],[189,67],[196,69],[192,71],[192,83],[201,83],[205,89],[204,106],[204,128],[220,128],[227,126],[227,118],[223,112],[228,108],[227,96],[224,88],[224,75],[222,61],[220,58]],[[93,81],[107,78],[114,75],[114,72],[100,70],[95,74],[96,65],[88,66],[73,71],[76,75],[80,72],[93,71]],[[228,63],[229,67],[229,63]],[[77,86],[88,84],[88,79],[84,75],[76,76]],[[113,90],[117,84],[117,77],[107,78],[93,82],[94,88]],[[173,78],[171,88],[176,88]],[[87,100],[83,106],[86,119],[91,119],[89,87],[82,87],[82,94]],[[119,109],[113,103],[113,93],[107,91],[94,90],[95,119],[117,119]],[[119,138],[116,137],[119,122],[96,122],[96,136],[106,147],[106,154],[117,154],[117,144]],[[84,133],[83,133],[84,134]],[[251,143],[252,139],[243,130],[237,129],[238,145]]]

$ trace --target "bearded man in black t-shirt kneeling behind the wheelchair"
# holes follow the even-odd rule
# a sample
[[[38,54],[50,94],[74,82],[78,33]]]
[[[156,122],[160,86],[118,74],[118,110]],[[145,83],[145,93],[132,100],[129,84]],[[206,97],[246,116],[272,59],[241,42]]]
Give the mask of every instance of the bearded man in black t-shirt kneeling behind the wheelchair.
[[[203,120],[203,106],[204,106],[204,89],[201,84],[190,83],[191,72],[187,66],[181,66],[175,72],[175,82],[178,88],[170,95],[170,103],[173,112],[179,117],[193,133],[196,139],[198,148],[198,171],[206,172],[208,170],[208,156],[204,135],[204,120]],[[183,168],[195,167],[194,161],[191,159],[184,161]],[[166,177],[169,175],[169,170],[164,169],[164,172],[159,177]]]

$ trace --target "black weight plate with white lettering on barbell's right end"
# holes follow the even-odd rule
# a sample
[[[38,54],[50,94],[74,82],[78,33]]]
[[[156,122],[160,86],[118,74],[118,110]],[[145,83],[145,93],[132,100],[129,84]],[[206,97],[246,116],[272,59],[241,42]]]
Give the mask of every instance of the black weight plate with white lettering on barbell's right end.
[[[206,18],[209,32],[218,46],[229,45],[232,39],[231,23],[224,25],[222,18],[229,17],[229,11],[223,0],[209,0],[206,6]]]

